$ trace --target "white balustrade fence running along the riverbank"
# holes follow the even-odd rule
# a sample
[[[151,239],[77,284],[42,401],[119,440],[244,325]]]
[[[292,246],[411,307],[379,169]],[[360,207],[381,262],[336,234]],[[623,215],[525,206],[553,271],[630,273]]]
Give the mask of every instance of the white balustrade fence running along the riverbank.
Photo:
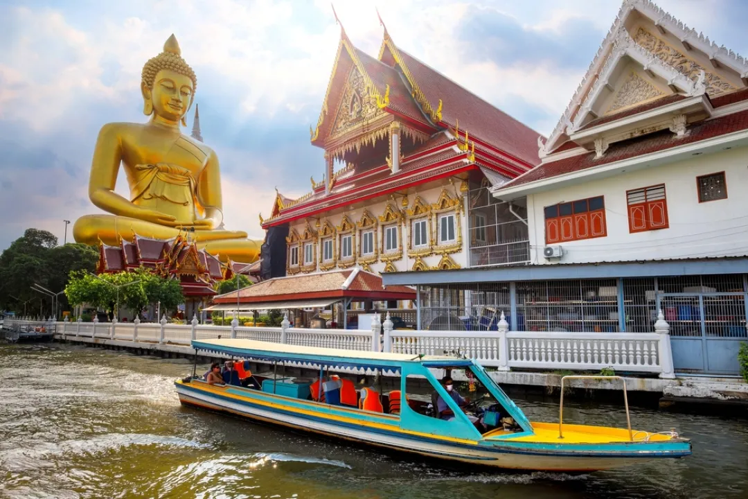
[[[39,321],[6,320],[5,328],[30,327]],[[245,338],[248,340],[316,346],[328,349],[384,351],[405,355],[460,355],[485,367],[539,370],[601,370],[659,373],[674,377],[669,325],[660,312],[652,333],[573,333],[509,331],[502,316],[497,331],[408,331],[393,330],[387,314],[384,322],[373,321],[371,330],[290,328],[287,319],[280,328],[238,325],[108,322],[46,322],[58,334],[116,338],[150,343],[189,345],[191,340]]]

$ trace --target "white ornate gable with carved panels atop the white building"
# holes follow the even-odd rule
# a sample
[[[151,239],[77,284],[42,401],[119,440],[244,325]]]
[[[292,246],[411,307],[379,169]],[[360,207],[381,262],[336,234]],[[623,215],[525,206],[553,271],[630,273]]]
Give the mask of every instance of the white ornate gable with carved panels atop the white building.
[[[548,141],[539,141],[539,155],[547,156],[570,139],[579,144],[573,135],[603,115],[672,94],[727,94],[746,88],[747,82],[746,59],[717,46],[652,1],[624,0]],[[604,143],[598,145],[605,149]]]

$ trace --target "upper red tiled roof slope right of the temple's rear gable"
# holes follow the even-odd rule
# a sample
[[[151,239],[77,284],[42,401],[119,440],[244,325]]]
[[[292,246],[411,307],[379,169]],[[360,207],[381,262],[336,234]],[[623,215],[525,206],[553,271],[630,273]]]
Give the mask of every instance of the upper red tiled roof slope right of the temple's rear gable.
[[[398,48],[402,60],[431,105],[441,99],[442,120],[452,126],[459,119],[460,129],[488,142],[511,156],[537,165],[539,133],[495,108],[446,76]]]

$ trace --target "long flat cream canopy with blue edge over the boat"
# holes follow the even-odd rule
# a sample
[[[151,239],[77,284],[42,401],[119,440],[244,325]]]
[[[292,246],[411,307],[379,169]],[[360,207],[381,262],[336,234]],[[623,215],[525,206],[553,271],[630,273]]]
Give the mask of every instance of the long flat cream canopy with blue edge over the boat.
[[[364,352],[319,348],[316,346],[286,345],[268,341],[221,338],[216,340],[192,340],[192,348],[266,361],[295,361],[329,367],[363,367],[399,371],[406,363],[417,363],[423,367],[461,367],[473,364],[469,359],[447,355],[409,355],[387,352]]]

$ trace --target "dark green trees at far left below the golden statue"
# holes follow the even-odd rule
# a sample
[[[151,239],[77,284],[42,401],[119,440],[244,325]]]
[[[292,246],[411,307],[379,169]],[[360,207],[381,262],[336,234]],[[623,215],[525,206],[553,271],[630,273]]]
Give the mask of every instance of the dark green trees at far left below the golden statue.
[[[29,314],[49,313],[51,298],[31,290],[39,284],[54,293],[67,286],[71,271],[93,272],[99,252],[81,244],[58,246],[58,239],[46,230],[27,229],[0,254],[0,308],[22,313],[28,301]],[[60,296],[59,310],[69,305]],[[44,302],[41,310],[40,300]]]

